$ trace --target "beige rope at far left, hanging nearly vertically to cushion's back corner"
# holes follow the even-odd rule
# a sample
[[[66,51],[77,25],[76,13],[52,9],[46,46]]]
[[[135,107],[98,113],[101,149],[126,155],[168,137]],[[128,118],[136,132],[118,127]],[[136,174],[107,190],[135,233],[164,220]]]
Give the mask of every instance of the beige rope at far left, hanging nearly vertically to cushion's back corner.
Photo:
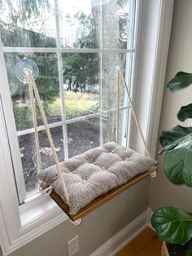
[[[35,130],[35,148],[36,148],[36,154],[37,154],[37,164],[38,164],[37,174],[38,174],[42,170],[42,165],[41,165],[41,156],[40,156],[40,147],[39,147],[39,136],[38,136],[38,130],[37,130],[37,114],[36,114],[34,97],[33,97],[33,86],[29,82],[29,78],[28,78],[28,90],[29,90],[30,104],[32,108],[33,127]]]

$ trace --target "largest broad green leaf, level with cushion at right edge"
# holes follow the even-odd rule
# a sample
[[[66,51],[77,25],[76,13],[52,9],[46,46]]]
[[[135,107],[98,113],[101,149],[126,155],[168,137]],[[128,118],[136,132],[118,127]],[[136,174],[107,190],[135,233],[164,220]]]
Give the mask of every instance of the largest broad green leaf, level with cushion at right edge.
[[[166,153],[164,172],[170,182],[192,186],[192,134],[186,135],[177,147]]]

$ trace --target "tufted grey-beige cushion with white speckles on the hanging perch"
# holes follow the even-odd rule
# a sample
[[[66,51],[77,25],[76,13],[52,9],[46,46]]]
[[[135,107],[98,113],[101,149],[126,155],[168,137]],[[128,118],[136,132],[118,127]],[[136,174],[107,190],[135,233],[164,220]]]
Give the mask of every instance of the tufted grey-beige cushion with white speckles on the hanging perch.
[[[97,196],[127,183],[135,175],[155,165],[157,161],[113,142],[61,162],[63,179],[68,189],[70,214],[76,214]],[[42,170],[38,179],[51,184],[65,201],[55,166]]]

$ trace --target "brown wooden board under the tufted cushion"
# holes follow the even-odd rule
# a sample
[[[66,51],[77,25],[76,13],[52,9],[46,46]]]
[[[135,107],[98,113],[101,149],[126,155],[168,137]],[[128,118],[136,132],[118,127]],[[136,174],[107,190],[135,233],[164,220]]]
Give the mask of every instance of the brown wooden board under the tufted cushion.
[[[105,204],[107,201],[110,201],[113,197],[118,196],[120,193],[124,192],[126,189],[130,188],[134,184],[138,183],[142,179],[149,176],[151,173],[153,173],[155,170],[157,170],[157,166],[153,166],[150,170],[146,170],[142,174],[137,174],[133,179],[129,180],[129,182],[124,183],[120,185],[117,188],[111,189],[111,191],[98,196],[94,199],[94,201],[90,202],[89,205],[86,205],[83,209],[81,209],[77,214],[72,215],[70,214],[70,210],[68,205],[63,201],[61,196],[59,196],[55,190],[52,190],[50,193],[50,197],[55,201],[57,205],[65,212],[65,214],[68,215],[69,218],[71,218],[72,221],[76,221],[79,218],[85,217],[85,215],[89,214],[93,210],[97,209],[99,206]],[[41,183],[41,188],[45,189],[48,188],[49,184],[47,183]]]

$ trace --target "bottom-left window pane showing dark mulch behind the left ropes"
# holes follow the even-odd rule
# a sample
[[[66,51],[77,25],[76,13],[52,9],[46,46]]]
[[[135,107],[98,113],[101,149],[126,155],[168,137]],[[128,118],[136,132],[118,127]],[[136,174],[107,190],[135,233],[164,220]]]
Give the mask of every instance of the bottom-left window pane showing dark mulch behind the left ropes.
[[[55,149],[59,157],[59,161],[64,160],[64,147],[63,147],[63,127],[55,127],[50,129]],[[35,149],[35,137],[34,134],[22,135],[19,138],[20,155],[24,171],[24,181],[27,192],[33,192],[38,188],[37,181],[37,156]],[[55,165],[55,161],[52,157],[50,143],[47,139],[46,131],[41,130],[39,132],[39,142],[41,151],[42,169],[46,169],[49,166]]]

